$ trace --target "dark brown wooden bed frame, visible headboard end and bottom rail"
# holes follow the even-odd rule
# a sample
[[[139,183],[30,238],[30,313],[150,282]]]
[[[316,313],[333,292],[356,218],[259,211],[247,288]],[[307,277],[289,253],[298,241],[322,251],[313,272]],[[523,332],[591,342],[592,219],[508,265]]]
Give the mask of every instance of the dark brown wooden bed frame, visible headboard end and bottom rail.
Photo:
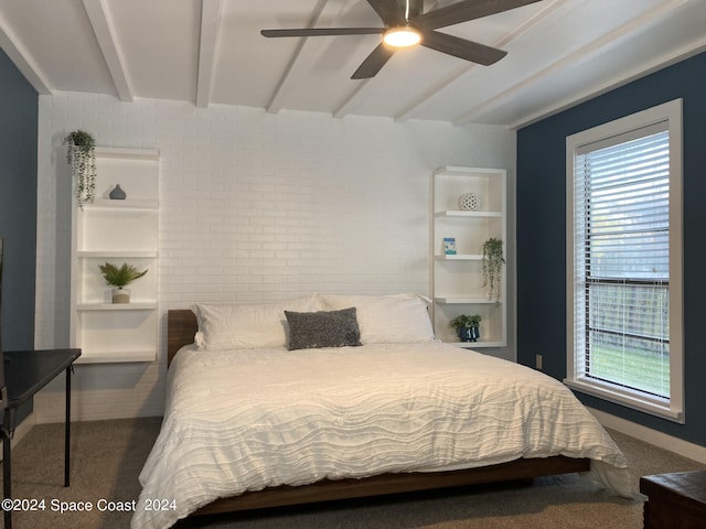
[[[194,341],[197,331],[196,317],[190,310],[170,310],[167,316],[167,357],[171,364],[179,349]],[[364,479],[323,479],[303,486],[280,486],[245,493],[232,498],[221,498],[195,512],[207,515],[252,510],[287,505],[309,504],[334,499],[382,496],[388,494],[430,490],[436,488],[489,484],[512,481],[528,481],[534,477],[587,472],[590,460],[563,455],[546,458],[520,458],[500,465],[462,471],[434,473],[382,474]]]

